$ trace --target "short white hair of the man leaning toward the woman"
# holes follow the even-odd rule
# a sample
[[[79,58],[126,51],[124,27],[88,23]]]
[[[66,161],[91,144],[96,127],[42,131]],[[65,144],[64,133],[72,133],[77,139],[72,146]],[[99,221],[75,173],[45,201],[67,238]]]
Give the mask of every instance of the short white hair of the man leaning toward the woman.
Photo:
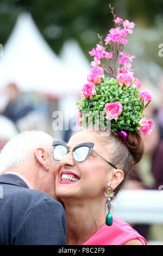
[[[42,131],[24,131],[13,137],[0,153],[0,173],[28,161],[29,154],[42,147],[52,154],[53,138]]]

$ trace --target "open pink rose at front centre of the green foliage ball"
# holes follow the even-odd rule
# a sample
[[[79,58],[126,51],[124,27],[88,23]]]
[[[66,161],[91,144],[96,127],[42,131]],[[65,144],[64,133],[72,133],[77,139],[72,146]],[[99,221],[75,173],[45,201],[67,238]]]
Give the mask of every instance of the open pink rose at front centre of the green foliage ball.
[[[105,113],[106,119],[118,119],[118,116],[122,113],[122,105],[119,101],[113,103],[106,103],[105,105]]]

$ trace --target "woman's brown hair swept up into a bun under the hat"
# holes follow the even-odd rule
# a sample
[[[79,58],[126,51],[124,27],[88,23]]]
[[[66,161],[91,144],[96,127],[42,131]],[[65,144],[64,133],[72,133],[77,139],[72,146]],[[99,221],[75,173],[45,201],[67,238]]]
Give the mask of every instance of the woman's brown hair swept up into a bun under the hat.
[[[144,144],[141,136],[136,131],[129,131],[126,141],[123,141],[114,133],[107,137],[101,136],[100,141],[102,144],[109,144],[112,149],[111,163],[118,169],[123,170],[124,173],[123,181],[114,190],[116,196],[128,179],[131,170],[141,160],[145,150]]]

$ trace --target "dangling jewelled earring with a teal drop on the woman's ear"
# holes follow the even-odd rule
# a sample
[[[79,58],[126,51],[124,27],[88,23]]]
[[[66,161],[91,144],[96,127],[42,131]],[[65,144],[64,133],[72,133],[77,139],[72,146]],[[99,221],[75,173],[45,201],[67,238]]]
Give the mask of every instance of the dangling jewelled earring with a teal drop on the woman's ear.
[[[114,192],[112,191],[110,182],[108,182],[106,184],[104,195],[105,195],[104,197],[107,198],[106,204],[108,204],[108,215],[106,216],[105,223],[106,223],[106,225],[111,226],[112,225],[112,215],[110,214],[110,209],[111,209],[110,201],[111,201],[111,198],[114,198]]]

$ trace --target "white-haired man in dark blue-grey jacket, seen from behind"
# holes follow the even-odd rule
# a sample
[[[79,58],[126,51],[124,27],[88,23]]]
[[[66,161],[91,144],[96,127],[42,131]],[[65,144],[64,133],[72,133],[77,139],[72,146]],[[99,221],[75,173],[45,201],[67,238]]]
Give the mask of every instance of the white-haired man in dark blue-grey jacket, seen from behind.
[[[0,245],[65,245],[65,211],[55,195],[53,138],[22,132],[0,153]]]

